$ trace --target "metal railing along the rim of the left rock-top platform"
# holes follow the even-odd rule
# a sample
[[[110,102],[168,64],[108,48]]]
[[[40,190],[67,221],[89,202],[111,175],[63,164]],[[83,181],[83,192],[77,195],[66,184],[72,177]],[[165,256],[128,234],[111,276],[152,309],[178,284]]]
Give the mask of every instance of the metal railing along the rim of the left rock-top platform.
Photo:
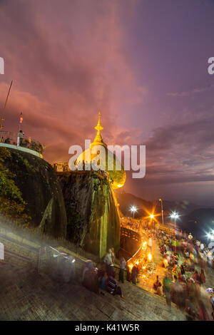
[[[44,152],[44,146],[37,140],[34,140],[30,136],[24,135],[24,133],[11,133],[10,131],[0,131],[0,143],[16,145],[21,148],[27,148],[34,150],[37,153],[42,154]]]

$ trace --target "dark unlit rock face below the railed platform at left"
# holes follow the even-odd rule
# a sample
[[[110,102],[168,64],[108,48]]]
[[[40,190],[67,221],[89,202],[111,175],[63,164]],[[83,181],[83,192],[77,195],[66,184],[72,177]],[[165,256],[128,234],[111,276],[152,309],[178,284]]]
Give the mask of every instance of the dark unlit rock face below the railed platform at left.
[[[21,190],[31,226],[53,237],[66,237],[66,209],[56,172],[49,163],[30,153],[7,149],[4,167],[13,173]]]

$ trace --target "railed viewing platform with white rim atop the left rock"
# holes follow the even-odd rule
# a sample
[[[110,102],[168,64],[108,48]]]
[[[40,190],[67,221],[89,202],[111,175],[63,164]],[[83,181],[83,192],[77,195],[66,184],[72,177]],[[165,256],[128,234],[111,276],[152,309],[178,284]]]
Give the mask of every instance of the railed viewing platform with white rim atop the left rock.
[[[31,153],[39,158],[43,158],[44,146],[30,136],[24,133],[11,133],[9,131],[0,131],[0,147],[11,148],[25,153]]]

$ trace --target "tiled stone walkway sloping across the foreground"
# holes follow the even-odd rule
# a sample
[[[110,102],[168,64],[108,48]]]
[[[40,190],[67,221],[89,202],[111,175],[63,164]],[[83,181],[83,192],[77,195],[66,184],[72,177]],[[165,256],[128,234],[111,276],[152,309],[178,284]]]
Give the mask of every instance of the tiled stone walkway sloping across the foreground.
[[[95,294],[78,282],[63,284],[34,270],[0,264],[1,320],[183,320],[184,315],[165,300],[121,284],[125,299]]]

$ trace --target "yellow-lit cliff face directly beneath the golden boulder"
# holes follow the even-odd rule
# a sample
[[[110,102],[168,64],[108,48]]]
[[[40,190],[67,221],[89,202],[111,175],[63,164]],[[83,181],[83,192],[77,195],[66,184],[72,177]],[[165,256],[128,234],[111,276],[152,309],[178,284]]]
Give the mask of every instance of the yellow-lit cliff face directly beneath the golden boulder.
[[[103,257],[120,247],[116,198],[108,182],[95,172],[58,173],[67,212],[67,238]]]

